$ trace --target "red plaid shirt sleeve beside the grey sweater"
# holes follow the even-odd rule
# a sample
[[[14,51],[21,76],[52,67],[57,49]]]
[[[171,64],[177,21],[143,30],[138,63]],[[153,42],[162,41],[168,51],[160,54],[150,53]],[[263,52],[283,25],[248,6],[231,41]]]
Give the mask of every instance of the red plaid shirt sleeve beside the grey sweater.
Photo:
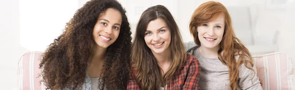
[[[199,80],[201,67],[197,58],[190,56],[189,59],[192,60],[192,63],[189,65],[188,76],[185,80],[183,89],[184,90],[199,90]]]

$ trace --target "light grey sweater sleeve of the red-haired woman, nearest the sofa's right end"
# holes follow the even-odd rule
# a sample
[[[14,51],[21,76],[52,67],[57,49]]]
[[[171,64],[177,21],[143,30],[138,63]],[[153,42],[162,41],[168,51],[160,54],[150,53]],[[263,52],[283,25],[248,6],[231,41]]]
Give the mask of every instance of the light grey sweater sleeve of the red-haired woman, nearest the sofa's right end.
[[[247,64],[247,66],[252,67],[250,64]],[[240,65],[239,67],[238,85],[242,90],[262,90],[257,74],[255,74],[255,72],[251,69],[245,67],[244,64]]]

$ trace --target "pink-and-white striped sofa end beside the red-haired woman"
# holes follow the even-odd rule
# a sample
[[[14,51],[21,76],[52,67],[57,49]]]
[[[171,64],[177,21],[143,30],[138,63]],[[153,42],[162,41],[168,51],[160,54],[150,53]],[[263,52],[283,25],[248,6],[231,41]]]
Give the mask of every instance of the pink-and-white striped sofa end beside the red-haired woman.
[[[263,90],[293,90],[293,62],[280,52],[254,56],[257,76]]]

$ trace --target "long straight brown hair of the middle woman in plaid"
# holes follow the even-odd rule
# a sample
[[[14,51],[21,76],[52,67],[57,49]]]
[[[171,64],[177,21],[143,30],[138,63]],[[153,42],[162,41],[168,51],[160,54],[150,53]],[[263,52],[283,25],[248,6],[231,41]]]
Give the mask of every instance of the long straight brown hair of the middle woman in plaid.
[[[162,76],[163,70],[158,66],[157,60],[145,42],[145,31],[148,22],[163,19],[171,31],[171,65]],[[178,26],[169,12],[162,5],[149,7],[143,12],[137,24],[134,41],[132,44],[132,67],[136,70],[136,80],[142,90],[159,90],[161,85],[166,85],[172,75],[185,63],[185,48],[182,43]]]

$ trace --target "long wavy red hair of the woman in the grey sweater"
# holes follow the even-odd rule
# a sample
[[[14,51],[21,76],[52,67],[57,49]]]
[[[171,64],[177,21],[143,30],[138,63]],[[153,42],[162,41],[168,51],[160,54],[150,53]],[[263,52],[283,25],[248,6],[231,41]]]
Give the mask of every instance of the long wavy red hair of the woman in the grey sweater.
[[[222,41],[220,42],[220,49],[218,50],[218,59],[229,67],[230,87],[236,90],[239,79],[239,66],[244,64],[245,67],[251,69],[254,73],[253,60],[248,49],[236,37],[232,27],[232,20],[230,14],[224,5],[215,1],[208,1],[201,4],[193,13],[189,23],[189,31],[194,37],[197,45],[201,45],[198,38],[197,27],[204,23],[215,20],[219,15],[224,15],[225,28]],[[239,56],[236,61],[236,56]],[[249,67],[248,65],[251,65]],[[255,75],[254,75],[255,76]],[[253,78],[254,78],[253,76]],[[253,79],[252,78],[252,79]]]

